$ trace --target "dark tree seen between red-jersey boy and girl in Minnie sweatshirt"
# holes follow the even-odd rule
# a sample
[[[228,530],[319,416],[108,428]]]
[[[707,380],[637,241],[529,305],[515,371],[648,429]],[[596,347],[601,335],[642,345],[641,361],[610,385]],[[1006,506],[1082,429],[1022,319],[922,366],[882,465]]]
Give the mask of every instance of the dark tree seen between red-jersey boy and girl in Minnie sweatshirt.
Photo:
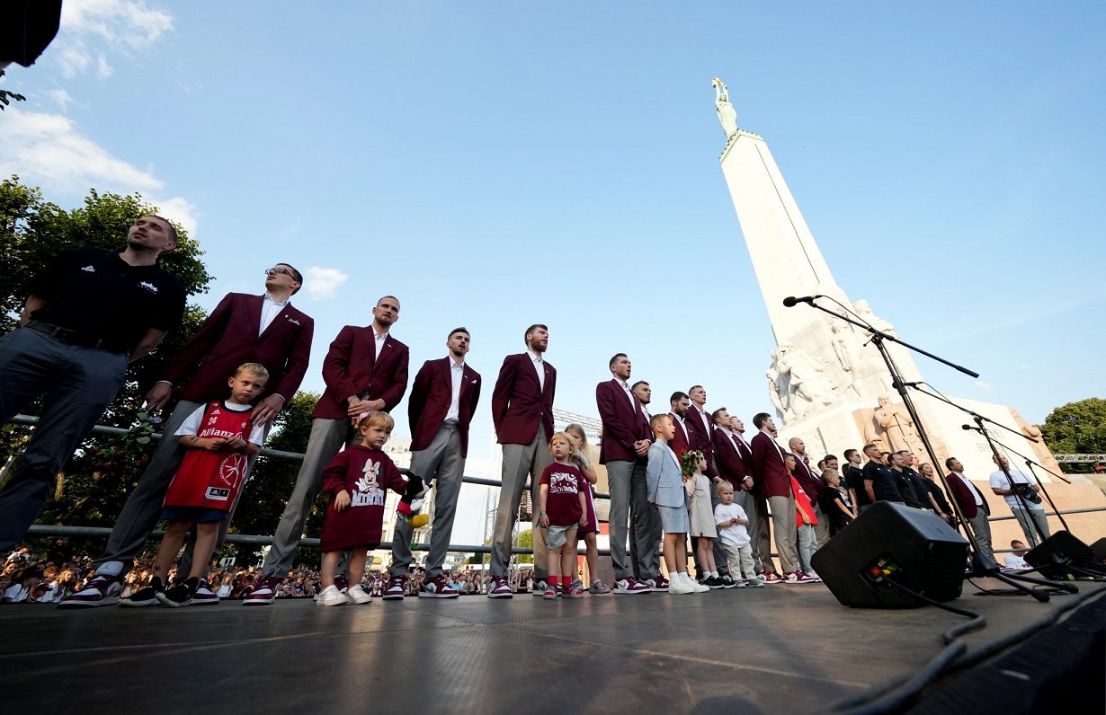
[[[311,411],[315,409],[317,401],[317,393],[296,392],[276,417],[265,441],[265,448],[302,454],[307,449],[307,438],[311,437]],[[301,460],[259,456],[253,465],[250,481],[242,492],[242,498],[238,503],[230,530],[236,534],[272,534],[276,530],[281,514],[284,513],[284,504],[292,494],[302,464]],[[325,513],[326,495],[321,493],[315,498],[305,525],[307,536],[317,537],[322,534]],[[249,544],[240,544],[234,548],[239,564],[252,562],[260,550],[260,546]],[[296,551],[296,560],[315,564],[319,560],[319,549],[301,547],[301,550]]]

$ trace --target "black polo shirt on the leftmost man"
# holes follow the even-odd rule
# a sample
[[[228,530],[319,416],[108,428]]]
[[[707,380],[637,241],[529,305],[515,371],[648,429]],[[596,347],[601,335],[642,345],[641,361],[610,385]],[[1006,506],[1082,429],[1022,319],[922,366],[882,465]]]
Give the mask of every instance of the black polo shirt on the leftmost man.
[[[132,353],[149,329],[171,330],[185,312],[185,286],[159,265],[131,265],[116,251],[73,249],[34,278],[30,293],[49,305],[31,314],[105,349]]]

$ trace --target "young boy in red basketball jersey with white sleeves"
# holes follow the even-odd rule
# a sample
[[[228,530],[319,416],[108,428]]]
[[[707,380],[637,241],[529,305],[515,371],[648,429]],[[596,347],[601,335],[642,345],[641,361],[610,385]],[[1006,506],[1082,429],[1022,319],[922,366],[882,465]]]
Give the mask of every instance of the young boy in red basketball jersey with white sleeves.
[[[181,607],[192,602],[215,551],[219,525],[227,519],[242,486],[249,458],[261,451],[264,442],[265,429],[250,421],[250,412],[268,381],[269,370],[263,366],[239,366],[227,380],[230,398],[197,408],[177,430],[174,437],[188,448],[188,453],[165,495],[161,518],[169,523],[154,559],[154,578],[149,586],[121,600],[119,606],[154,606],[160,601]],[[166,590],[166,575],[194,524],[192,570],[184,582]]]

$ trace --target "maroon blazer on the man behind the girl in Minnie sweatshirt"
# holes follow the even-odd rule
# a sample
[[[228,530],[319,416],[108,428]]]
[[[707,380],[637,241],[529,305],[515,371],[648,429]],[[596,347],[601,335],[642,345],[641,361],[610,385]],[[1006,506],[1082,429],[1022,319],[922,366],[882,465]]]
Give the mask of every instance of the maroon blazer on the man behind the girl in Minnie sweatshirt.
[[[376,355],[373,326],[345,326],[331,343],[331,349],[323,360],[326,390],[319,398],[311,417],[344,419],[347,412],[346,398],[351,395],[358,395],[362,399],[384,400],[384,410],[392,410],[407,391],[408,359],[407,346],[392,337],[392,334],[384,339],[380,355]]]

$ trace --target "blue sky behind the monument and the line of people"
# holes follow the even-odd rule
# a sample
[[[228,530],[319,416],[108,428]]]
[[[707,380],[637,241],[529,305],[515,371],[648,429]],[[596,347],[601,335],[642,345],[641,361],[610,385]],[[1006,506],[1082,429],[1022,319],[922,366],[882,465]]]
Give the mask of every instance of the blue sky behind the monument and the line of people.
[[[981,374],[918,358],[929,382],[1033,422],[1102,396],[1106,6],[682,6],[66,0],[4,77],[29,101],[0,114],[0,174],[159,202],[207,251],[208,308],[299,266],[305,389],[383,294],[413,375],[467,326],[479,459],[535,322],[563,409],[595,412],[616,351],[661,402],[769,407],[720,76],[852,299]]]

